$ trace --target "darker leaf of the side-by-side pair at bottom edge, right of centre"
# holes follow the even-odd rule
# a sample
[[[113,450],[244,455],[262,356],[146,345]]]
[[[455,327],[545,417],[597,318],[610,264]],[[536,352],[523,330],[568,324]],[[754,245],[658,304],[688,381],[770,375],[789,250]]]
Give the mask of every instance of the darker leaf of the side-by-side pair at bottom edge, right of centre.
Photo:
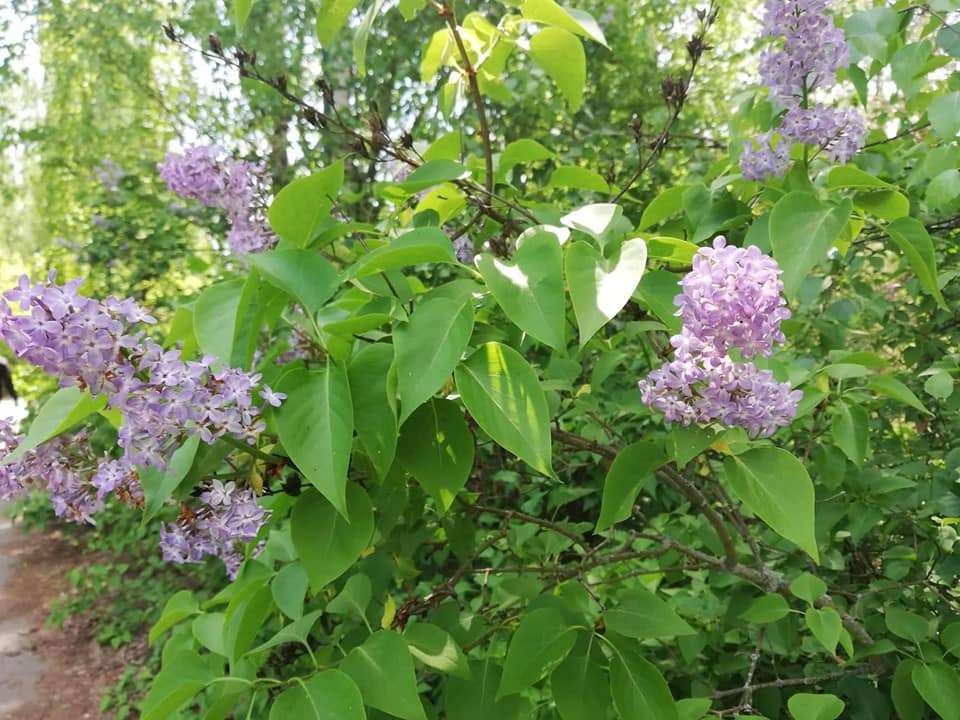
[[[609,715],[606,661],[599,643],[576,649],[550,675],[550,689],[563,720],[596,720]]]

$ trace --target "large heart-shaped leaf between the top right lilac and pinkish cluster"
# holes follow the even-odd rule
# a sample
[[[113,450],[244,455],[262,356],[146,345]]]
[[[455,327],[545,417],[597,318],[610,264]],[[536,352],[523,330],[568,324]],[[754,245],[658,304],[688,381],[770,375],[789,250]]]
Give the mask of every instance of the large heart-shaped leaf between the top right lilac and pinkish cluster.
[[[814,195],[792,192],[770,212],[770,246],[783,269],[784,291],[795,298],[800,283],[826,255],[850,219],[850,200],[821,203]]]

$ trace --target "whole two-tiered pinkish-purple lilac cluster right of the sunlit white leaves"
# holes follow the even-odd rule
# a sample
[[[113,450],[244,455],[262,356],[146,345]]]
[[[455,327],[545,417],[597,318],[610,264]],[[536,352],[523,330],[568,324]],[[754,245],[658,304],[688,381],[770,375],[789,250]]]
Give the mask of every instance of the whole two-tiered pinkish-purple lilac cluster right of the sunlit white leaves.
[[[713,421],[771,435],[790,424],[802,393],[779,383],[749,358],[769,356],[784,342],[781,270],[757,248],[727,247],[718,237],[701,249],[674,299],[683,321],[670,339],[674,359],[640,381],[643,402],[683,425]],[[744,362],[727,356],[737,350]]]

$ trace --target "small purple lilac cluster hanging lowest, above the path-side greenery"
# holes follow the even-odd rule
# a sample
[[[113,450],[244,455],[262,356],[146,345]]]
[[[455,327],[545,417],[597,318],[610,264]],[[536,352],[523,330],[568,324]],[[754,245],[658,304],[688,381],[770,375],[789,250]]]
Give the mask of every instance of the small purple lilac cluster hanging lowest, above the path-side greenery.
[[[235,578],[243,562],[244,544],[256,539],[270,519],[260,507],[252,488],[238,488],[213,480],[200,494],[199,510],[183,508],[175,523],[166,524],[160,533],[165,560],[176,563],[200,563],[207,555],[223,560],[227,574]]]

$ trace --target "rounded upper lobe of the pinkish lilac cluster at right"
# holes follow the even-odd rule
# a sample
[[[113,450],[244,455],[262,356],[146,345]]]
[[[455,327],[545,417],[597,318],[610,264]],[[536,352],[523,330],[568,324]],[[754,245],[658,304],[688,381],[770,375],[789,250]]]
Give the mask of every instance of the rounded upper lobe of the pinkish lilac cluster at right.
[[[790,317],[781,272],[759,248],[728,247],[722,236],[701,248],[673,301],[683,321],[678,344],[695,342],[702,354],[737,348],[744,358],[769,356],[774,342],[784,342],[780,321]]]

